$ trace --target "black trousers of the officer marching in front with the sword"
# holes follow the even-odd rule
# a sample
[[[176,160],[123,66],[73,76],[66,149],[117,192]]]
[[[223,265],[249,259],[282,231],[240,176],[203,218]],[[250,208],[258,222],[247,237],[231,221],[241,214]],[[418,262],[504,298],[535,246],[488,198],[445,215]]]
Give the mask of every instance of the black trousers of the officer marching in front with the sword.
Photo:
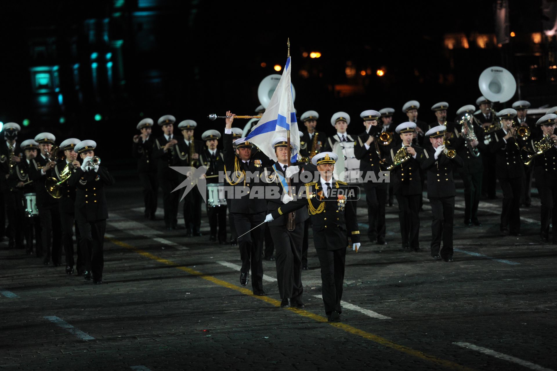
[[[344,263],[346,248],[338,250],[315,249],[321,265],[321,295],[325,313],[341,312],[340,301],[343,298]]]

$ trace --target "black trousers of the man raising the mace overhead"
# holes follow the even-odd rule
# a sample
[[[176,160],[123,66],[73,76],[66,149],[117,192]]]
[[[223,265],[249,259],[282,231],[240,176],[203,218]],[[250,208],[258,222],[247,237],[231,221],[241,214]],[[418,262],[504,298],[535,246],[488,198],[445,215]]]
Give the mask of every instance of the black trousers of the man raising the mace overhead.
[[[263,223],[265,215],[265,211],[255,214],[232,213],[234,225],[236,225],[236,232],[238,235],[246,233],[256,225]],[[249,272],[251,268],[251,286],[253,292],[263,291],[263,261],[261,260],[262,238],[262,225],[252,230],[251,233],[244,234],[242,237],[238,238],[240,258],[242,259],[241,272]]]

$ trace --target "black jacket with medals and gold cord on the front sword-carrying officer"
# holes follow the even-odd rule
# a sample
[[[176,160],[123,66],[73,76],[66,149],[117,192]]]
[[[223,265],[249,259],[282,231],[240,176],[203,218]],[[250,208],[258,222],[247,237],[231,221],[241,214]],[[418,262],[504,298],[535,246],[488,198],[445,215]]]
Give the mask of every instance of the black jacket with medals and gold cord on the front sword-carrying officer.
[[[355,205],[349,194],[350,188],[347,183],[337,180],[332,181],[332,186],[334,188],[329,191],[330,197],[326,198],[323,196],[323,189],[319,182],[306,183],[304,195],[280,206],[271,214],[273,218],[278,218],[290,211],[306,208],[311,215],[316,249],[346,248],[348,237],[352,243],[360,242]],[[348,195],[348,197],[340,203],[339,195]]]

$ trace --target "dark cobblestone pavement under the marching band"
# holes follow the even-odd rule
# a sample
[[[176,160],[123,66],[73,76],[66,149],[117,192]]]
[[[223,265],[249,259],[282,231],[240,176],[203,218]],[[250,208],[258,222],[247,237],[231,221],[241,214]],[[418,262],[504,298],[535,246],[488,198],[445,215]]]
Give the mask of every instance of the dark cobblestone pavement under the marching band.
[[[119,180],[108,194],[104,285],[0,244],[0,368],[556,369],[556,246],[539,242],[538,198],[521,209],[525,235],[501,236],[501,197],[481,202],[482,227],[465,227],[458,193],[455,263],[429,257],[427,199],[420,253],[402,251],[388,207],[388,245],[364,237],[349,250],[343,321],[331,325],[311,239],[306,310],[280,309],[274,262],[263,263],[268,296],[251,295],[236,247],[168,232],[162,210],[143,219],[137,182]]]

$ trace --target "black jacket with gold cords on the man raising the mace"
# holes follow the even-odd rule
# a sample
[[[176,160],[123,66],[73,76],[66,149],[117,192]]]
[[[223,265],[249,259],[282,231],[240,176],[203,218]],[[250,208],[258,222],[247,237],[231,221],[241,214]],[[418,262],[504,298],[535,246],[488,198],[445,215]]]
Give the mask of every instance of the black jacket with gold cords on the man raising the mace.
[[[272,165],[273,162],[263,152],[254,148],[248,165],[246,165],[236,156],[236,151],[232,147],[232,134],[224,134],[223,142],[224,171],[228,174],[228,184],[234,186],[235,197],[230,199],[230,212],[254,214],[267,211],[266,184],[260,181],[260,174],[266,166]],[[246,172],[250,172],[254,176],[246,177]],[[234,173],[236,173],[236,179],[233,177]],[[254,189],[256,192],[253,192]]]

